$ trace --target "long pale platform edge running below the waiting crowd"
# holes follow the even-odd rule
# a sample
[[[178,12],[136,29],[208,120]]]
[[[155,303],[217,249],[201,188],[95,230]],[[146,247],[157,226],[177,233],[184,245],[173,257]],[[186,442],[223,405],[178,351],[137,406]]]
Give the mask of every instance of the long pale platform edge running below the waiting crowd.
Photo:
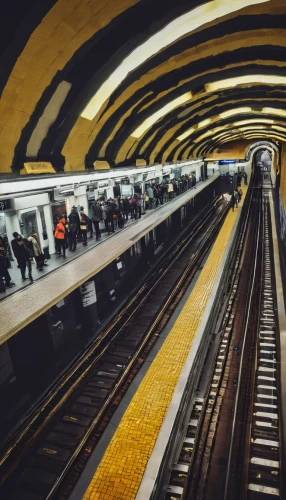
[[[1,313],[4,320],[0,323],[0,344],[113,262],[145,234],[152,231],[172,213],[198,195],[206,186],[212,184],[219,176],[219,173],[215,173],[208,180],[197,184],[171,202],[153,210],[136,223],[116,232],[113,237],[102,238],[93,248],[89,247],[76,259],[65,262],[63,265],[61,258],[59,267],[56,266],[54,269],[56,280],[54,272],[47,272],[45,276],[36,280],[32,285],[4,299],[1,302]],[[52,266],[50,269],[52,270]]]

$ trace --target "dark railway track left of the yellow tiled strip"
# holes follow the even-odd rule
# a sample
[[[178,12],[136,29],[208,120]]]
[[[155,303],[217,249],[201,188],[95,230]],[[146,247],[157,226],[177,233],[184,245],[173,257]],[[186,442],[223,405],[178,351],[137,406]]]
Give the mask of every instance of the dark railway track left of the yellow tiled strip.
[[[67,498],[209,251],[227,210],[216,200],[194,221],[190,234],[174,245],[76,366],[2,444],[1,498]]]

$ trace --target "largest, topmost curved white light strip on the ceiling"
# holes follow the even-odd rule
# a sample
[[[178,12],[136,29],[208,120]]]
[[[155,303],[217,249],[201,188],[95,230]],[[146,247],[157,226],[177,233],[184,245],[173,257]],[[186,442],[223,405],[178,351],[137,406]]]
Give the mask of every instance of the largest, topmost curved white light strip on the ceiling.
[[[219,18],[237,12],[250,5],[266,3],[269,0],[240,0],[231,2],[229,0],[213,0],[204,5],[190,10],[183,16],[174,19],[165,28],[151,36],[142,45],[134,49],[105,80],[96,94],[89,101],[81,116],[92,120],[105,101],[109,99],[115,89],[123,82],[129,73],[138,68],[147,59],[151,58],[176,40],[200,28],[201,26],[218,20]],[[218,22],[218,21],[217,21]]]

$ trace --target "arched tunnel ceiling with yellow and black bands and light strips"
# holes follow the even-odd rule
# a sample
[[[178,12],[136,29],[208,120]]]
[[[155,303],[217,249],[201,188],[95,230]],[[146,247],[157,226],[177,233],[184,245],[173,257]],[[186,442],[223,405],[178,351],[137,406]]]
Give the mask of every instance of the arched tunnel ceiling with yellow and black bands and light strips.
[[[27,159],[82,170],[286,139],[285,0],[17,6],[1,18],[0,172]]]

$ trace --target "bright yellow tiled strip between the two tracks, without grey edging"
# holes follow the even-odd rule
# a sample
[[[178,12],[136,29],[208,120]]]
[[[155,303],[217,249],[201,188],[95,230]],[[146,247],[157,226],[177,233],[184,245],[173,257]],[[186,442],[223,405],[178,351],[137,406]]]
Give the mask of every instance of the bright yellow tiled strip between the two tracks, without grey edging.
[[[236,217],[237,210],[227,215],[190,297],[128,406],[84,500],[131,500],[136,497]]]

